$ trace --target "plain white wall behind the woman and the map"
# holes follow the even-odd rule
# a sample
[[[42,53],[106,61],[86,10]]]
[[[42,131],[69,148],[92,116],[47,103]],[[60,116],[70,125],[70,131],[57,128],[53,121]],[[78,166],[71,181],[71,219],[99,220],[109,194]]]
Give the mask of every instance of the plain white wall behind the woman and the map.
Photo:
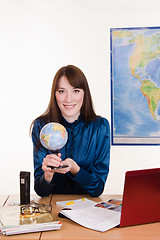
[[[111,120],[110,28],[160,26],[160,1],[0,0],[0,194],[19,193],[31,171],[31,122],[46,109],[64,65],[85,73],[96,113]],[[159,167],[158,146],[112,146],[105,193],[122,193],[126,170]]]

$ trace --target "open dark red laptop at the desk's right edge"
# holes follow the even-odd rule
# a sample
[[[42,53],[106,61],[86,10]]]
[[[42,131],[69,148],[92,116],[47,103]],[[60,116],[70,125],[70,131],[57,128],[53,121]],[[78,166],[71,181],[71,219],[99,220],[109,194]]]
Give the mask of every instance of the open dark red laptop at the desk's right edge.
[[[160,221],[160,168],[128,171],[119,227]]]

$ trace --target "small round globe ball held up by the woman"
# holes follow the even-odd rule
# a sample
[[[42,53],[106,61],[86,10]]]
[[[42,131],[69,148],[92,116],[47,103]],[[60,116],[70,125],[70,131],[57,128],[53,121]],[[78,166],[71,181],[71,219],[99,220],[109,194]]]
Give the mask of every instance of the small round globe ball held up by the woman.
[[[40,131],[41,144],[49,150],[56,151],[62,148],[67,140],[67,130],[59,123],[48,123]]]

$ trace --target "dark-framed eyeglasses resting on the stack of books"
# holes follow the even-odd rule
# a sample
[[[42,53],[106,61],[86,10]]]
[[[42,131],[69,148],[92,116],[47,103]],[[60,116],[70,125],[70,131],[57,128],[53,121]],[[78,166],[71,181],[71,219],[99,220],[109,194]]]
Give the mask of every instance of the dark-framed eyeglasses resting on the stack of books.
[[[50,213],[51,211],[52,205],[39,204],[35,202],[21,206],[21,215],[31,215],[33,213]]]

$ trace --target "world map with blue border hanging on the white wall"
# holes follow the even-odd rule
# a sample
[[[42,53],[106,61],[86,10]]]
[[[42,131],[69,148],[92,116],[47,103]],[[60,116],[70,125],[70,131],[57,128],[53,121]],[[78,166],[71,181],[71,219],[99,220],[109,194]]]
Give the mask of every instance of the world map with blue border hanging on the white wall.
[[[160,28],[111,29],[112,144],[160,144]]]

